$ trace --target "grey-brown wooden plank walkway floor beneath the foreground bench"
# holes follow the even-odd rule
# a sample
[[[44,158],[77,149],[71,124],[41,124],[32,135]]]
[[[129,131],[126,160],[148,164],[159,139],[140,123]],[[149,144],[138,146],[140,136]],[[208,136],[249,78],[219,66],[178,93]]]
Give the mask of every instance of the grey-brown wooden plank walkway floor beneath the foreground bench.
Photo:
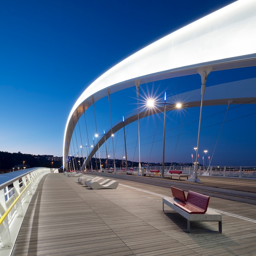
[[[210,208],[230,213],[222,215],[222,234],[208,233],[218,222],[192,222],[189,234],[184,218],[162,211],[161,195],[171,189],[119,180],[117,189],[92,190],[51,173],[38,185],[12,256],[256,255],[256,205],[211,197]]]

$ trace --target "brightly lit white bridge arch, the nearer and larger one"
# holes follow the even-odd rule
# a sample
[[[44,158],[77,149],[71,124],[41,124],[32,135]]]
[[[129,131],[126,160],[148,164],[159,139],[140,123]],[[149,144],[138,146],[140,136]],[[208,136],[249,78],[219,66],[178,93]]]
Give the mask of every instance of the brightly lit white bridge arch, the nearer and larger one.
[[[121,61],[81,94],[67,119],[63,166],[76,123],[109,93],[135,83],[256,65],[256,1],[239,0],[179,29]]]

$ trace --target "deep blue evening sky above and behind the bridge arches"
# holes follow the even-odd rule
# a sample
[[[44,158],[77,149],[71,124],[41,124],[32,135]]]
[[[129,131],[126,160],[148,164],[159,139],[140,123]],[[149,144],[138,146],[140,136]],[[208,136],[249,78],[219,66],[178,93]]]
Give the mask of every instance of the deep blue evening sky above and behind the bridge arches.
[[[62,156],[67,117],[90,83],[139,49],[231,2],[233,1],[2,2],[0,151]],[[207,86],[254,77],[255,70],[254,67],[235,72],[218,72],[214,76],[210,74]],[[171,95],[173,90],[188,90],[188,84],[193,84],[190,87],[192,89],[200,88],[200,76],[159,81],[143,85],[141,90],[145,93],[147,90],[154,90],[160,95],[166,91],[167,95]],[[135,88],[111,96],[113,124],[123,115],[134,111],[136,102]],[[108,99],[102,99],[95,108],[99,121],[97,130],[103,132],[103,129],[110,127]],[[204,108],[204,127],[200,141],[202,152],[208,149],[211,155],[226,108],[227,106]],[[95,127],[92,112],[91,109],[86,114],[87,123],[90,124],[90,138]],[[233,115],[227,117],[230,121],[223,127],[213,164],[256,165],[255,106],[240,106],[230,112]],[[213,117],[207,119],[207,115],[211,114]],[[176,112],[168,114],[166,118],[166,162],[171,162],[172,159],[174,162],[192,162],[191,153],[194,153],[193,147],[197,141],[198,108],[187,110],[174,155],[173,146],[176,145],[183,117],[184,113]],[[234,118],[238,119],[232,121]],[[141,135],[141,161],[162,160],[162,116],[159,117],[158,125],[157,119],[158,117],[151,117],[141,121],[141,126],[145,128]],[[128,158],[134,161],[138,160],[136,128],[137,124],[126,128]],[[78,132],[77,130],[76,133]],[[121,131],[119,133],[119,139],[115,141],[116,158],[121,159],[124,146]],[[85,144],[85,130],[82,134],[82,143]],[[92,141],[89,140],[88,143]],[[154,150],[151,150],[152,145]]]

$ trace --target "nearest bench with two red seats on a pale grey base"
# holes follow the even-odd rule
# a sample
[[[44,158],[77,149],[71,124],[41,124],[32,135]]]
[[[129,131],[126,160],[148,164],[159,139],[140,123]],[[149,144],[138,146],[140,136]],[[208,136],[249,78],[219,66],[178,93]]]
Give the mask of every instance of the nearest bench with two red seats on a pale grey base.
[[[193,191],[189,191],[187,198],[185,198],[184,191],[172,187],[172,193],[174,198],[163,198],[163,211],[164,204],[168,205],[171,209],[179,213],[187,220],[187,231],[190,233],[191,221],[218,221],[219,232],[222,232],[222,215],[208,209],[210,197],[202,195]]]

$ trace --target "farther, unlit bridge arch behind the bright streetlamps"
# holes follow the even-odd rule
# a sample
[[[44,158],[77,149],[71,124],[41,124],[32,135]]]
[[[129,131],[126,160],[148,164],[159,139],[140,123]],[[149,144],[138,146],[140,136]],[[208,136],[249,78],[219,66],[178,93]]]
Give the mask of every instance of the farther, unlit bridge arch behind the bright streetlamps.
[[[207,88],[207,93],[205,94],[204,106],[216,106],[216,105],[228,105],[231,104],[256,104],[256,78],[245,79],[240,81],[235,81],[231,83],[219,84],[209,86]],[[219,92],[222,92],[221,94]],[[238,97],[239,95],[239,97]],[[168,99],[170,102],[178,102],[179,99],[186,99],[186,102],[183,102],[183,107],[194,108],[199,107],[201,103],[200,99],[200,89],[185,92],[182,94],[176,94]],[[175,106],[167,105],[166,111],[175,110]],[[141,111],[139,113],[139,119],[148,117],[150,115],[155,115],[157,113],[164,112],[164,106],[159,106],[154,109],[154,112],[151,110]],[[99,148],[105,143],[105,139],[108,140],[112,132],[115,134],[118,130],[122,129],[124,126],[131,124],[134,121],[137,121],[137,112],[132,113],[127,116],[123,121],[118,122],[113,126],[113,128],[106,131],[105,137],[101,137],[98,143]],[[90,154],[85,160],[85,166],[89,164],[89,161],[94,157],[95,153],[98,150],[98,145],[92,148]]]

